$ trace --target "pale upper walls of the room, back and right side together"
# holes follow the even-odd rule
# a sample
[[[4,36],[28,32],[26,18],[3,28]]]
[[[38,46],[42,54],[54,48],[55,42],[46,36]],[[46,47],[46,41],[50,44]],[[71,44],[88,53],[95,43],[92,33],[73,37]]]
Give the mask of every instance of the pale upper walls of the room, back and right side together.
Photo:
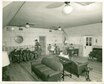
[[[94,44],[93,47],[102,47],[102,24],[90,24],[78,27],[72,27],[65,29],[68,35],[68,42],[73,43],[76,48],[79,48],[79,54],[83,54],[83,36],[91,35],[94,36]],[[15,42],[15,37],[17,35],[22,35],[24,38],[23,43],[18,44]],[[48,44],[58,44],[60,48],[62,48],[63,43],[63,32],[61,31],[53,31],[49,32],[49,29],[42,28],[23,28],[23,31],[19,31],[16,27],[15,30],[11,31],[7,28],[3,30],[3,41],[6,42],[8,47],[33,47],[35,39],[39,39],[39,36],[46,36],[46,47]],[[97,40],[97,42],[96,42]],[[8,49],[12,50],[12,49]],[[47,49],[46,49],[47,51]],[[48,53],[48,52],[46,52]]]

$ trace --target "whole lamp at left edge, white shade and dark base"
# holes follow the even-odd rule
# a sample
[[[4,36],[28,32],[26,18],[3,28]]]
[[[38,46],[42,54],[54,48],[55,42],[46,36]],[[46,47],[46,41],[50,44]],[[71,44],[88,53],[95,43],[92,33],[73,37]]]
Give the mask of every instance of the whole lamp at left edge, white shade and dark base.
[[[8,65],[10,64],[9,56],[6,51],[2,53],[2,80],[9,81],[10,77],[7,73]]]

